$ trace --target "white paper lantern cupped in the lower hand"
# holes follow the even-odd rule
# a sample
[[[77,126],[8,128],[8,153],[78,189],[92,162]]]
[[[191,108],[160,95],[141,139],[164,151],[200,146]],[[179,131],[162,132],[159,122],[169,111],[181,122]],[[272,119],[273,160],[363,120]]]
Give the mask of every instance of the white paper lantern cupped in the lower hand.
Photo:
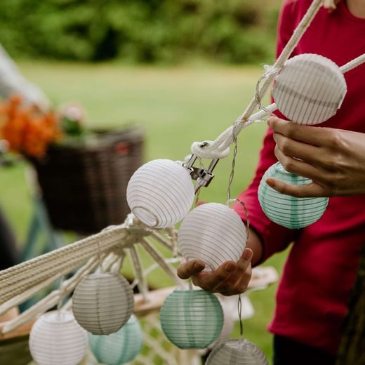
[[[194,208],[178,232],[178,246],[184,258],[204,261],[205,270],[216,270],[228,260],[237,262],[246,241],[246,227],[239,215],[219,203]]]

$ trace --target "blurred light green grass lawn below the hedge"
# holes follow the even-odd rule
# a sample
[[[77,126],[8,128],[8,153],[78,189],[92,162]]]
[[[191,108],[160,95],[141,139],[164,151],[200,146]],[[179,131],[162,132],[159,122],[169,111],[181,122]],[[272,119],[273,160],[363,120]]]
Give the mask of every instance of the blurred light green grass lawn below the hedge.
[[[179,68],[121,67],[116,64],[73,65],[21,62],[20,69],[60,105],[84,105],[90,126],[116,127],[129,123],[145,128],[145,161],[183,159],[194,141],[213,140],[243,112],[255,90],[259,67],[194,66]],[[265,124],[253,124],[239,135],[232,196],[250,182],[258,161]],[[225,203],[232,156],[215,169],[215,179],[201,199]],[[24,165],[0,171],[0,204],[11,220],[19,241],[24,241],[32,212],[24,178]],[[281,272],[286,253],[271,258]],[[128,265],[127,265],[128,267]],[[168,285],[157,274],[154,285]],[[250,295],[255,316],[245,321],[245,336],[271,360],[271,336],[266,325],[274,307],[272,286]],[[237,328],[235,333],[237,334]]]

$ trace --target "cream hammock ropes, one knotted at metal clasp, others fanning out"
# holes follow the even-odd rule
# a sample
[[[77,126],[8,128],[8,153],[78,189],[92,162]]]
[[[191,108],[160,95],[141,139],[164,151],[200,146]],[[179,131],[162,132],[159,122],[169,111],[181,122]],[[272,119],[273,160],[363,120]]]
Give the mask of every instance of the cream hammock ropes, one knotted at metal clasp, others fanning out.
[[[230,145],[236,139],[237,135],[243,128],[249,126],[255,121],[261,121],[267,113],[276,110],[276,105],[268,107],[260,106],[260,100],[267,92],[272,81],[286,60],[288,60],[293,49],[298,44],[299,39],[303,36],[310,22],[321,7],[322,0],[314,0],[298,27],[293,32],[284,50],[277,58],[270,72],[265,72],[258,85],[254,98],[246,107],[243,114],[234,122],[230,128],[221,133],[214,141],[194,142],[192,145],[192,154],[200,159],[222,159],[230,153]],[[348,72],[365,62],[365,53],[340,67],[342,72]],[[256,112],[259,110],[258,112]],[[237,145],[236,145],[237,154]],[[232,162],[232,171],[234,161]],[[232,184],[234,171],[230,175],[230,184]],[[196,192],[199,186],[196,187]],[[78,282],[90,272],[98,270],[97,267],[102,261],[101,269],[105,272],[119,272],[124,263],[126,255],[131,256],[131,262],[135,273],[135,285],[138,285],[140,292],[147,300],[147,281],[145,272],[142,269],[141,260],[135,244],[140,244],[141,248],[168,274],[175,283],[185,288],[185,283],[179,279],[175,273],[175,267],[171,262],[159,253],[157,248],[152,244],[152,239],[166,246],[174,255],[177,253],[176,241],[177,234],[173,227],[164,230],[154,230],[151,227],[142,225],[134,215],[130,214],[126,221],[121,225],[114,225],[105,228],[102,232],[86,237],[64,246],[55,251],[51,251],[32,260],[20,263],[13,267],[0,272],[0,314],[11,310],[20,303],[25,302],[28,298],[34,296],[41,289],[51,286],[53,282],[63,277],[69,272],[74,272],[72,277],[63,281],[60,288],[52,291],[48,296],[39,300],[38,303],[30,307],[20,316],[6,322],[1,326],[1,333],[4,335],[13,331],[21,324],[33,319],[38,314],[44,313],[51,307],[58,305],[63,296],[67,296],[77,286]],[[100,269],[99,269],[100,270]],[[62,308],[69,308],[70,301],[65,303]]]

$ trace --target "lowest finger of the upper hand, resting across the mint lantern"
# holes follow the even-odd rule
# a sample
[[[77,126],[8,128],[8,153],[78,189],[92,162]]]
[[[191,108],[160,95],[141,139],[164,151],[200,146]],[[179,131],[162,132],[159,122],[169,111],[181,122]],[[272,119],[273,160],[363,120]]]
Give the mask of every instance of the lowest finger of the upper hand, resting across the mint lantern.
[[[281,192],[281,194],[291,195],[297,198],[307,197],[328,197],[326,190],[317,183],[310,183],[308,185],[288,185],[284,181],[268,178],[267,185],[272,189]]]

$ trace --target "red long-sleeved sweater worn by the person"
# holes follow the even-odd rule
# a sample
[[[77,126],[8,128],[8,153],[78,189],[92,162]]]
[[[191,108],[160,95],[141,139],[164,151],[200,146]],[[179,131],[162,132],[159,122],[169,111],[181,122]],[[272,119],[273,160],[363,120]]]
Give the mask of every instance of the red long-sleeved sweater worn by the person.
[[[310,3],[310,0],[284,3],[279,20],[278,54]],[[331,14],[321,8],[294,53],[317,53],[341,66],[364,52],[365,20],[354,17],[341,1],[338,10]],[[365,133],[365,65],[346,73],[345,79],[348,91],[342,107],[319,126]],[[288,230],[272,223],[258,203],[261,177],[276,161],[272,132],[268,131],[253,182],[239,196],[248,208],[251,225],[263,239],[264,259],[294,242],[269,329],[335,354],[360,247],[365,242],[365,195],[330,198],[320,220],[302,230]],[[235,208],[244,219],[241,206]]]

